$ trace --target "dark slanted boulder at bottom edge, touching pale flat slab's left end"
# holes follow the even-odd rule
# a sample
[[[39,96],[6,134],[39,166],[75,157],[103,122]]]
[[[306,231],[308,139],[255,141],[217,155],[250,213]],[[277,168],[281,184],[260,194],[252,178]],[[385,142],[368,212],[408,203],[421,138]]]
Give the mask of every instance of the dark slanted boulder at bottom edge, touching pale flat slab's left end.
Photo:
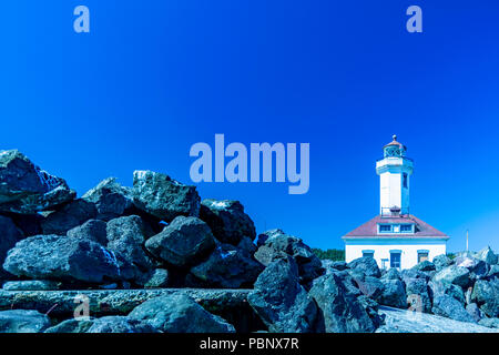
[[[358,300],[349,293],[342,278],[328,274],[314,280],[309,295],[319,307],[322,324],[327,333],[371,333],[375,325]]]

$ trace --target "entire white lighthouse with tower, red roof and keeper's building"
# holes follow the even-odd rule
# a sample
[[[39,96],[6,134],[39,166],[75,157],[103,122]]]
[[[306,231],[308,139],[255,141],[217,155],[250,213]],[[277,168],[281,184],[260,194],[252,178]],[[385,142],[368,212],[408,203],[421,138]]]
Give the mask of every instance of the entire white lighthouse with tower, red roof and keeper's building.
[[[414,164],[406,151],[396,135],[384,146],[384,158],[376,162],[380,185],[379,215],[343,236],[347,263],[371,256],[380,268],[410,268],[446,253],[449,236],[410,214]]]

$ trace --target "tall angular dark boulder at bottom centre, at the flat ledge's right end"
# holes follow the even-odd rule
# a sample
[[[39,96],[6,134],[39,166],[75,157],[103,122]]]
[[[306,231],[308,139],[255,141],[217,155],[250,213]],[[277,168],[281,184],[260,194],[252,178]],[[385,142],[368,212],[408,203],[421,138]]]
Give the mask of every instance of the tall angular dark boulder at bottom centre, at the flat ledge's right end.
[[[298,267],[289,256],[278,258],[265,268],[247,301],[269,332],[314,331],[317,306],[299,284]]]

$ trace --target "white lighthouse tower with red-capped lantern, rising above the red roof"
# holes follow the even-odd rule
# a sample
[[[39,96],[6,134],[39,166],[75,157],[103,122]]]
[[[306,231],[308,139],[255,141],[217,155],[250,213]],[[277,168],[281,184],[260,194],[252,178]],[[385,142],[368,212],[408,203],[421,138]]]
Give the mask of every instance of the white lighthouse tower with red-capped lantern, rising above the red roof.
[[[413,161],[406,158],[407,148],[394,140],[383,148],[384,158],[376,162],[379,175],[381,216],[409,214],[409,186]]]

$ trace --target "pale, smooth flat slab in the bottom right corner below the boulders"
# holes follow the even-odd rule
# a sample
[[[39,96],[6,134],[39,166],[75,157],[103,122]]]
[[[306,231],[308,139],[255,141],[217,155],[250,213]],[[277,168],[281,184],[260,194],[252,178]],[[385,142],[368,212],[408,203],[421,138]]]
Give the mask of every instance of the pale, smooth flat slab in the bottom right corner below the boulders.
[[[428,313],[379,307],[379,314],[386,316],[385,324],[376,333],[495,333],[485,326],[449,320]]]

